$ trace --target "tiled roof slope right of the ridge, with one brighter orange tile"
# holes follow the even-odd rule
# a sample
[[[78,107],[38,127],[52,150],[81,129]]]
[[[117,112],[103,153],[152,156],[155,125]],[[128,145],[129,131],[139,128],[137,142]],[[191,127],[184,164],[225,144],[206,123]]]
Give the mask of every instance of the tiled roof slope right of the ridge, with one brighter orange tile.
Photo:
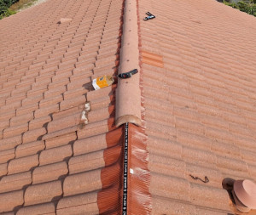
[[[256,179],[256,19],[213,0],[138,10],[152,214],[230,214],[224,178]]]

